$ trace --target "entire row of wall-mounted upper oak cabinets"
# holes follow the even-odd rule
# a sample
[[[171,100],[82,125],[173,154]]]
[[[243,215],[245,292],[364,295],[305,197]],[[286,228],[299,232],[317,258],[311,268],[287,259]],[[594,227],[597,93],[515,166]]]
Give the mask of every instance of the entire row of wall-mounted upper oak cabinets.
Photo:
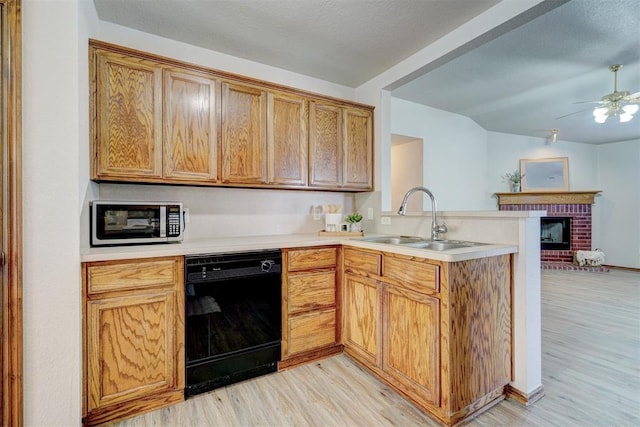
[[[96,181],[373,189],[373,108],[90,41]]]

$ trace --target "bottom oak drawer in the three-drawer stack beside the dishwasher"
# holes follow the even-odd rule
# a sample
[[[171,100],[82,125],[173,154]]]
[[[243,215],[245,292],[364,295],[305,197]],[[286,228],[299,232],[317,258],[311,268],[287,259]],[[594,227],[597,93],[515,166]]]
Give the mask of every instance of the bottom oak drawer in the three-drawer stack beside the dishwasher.
[[[336,342],[336,311],[313,311],[291,317],[288,327],[289,354],[332,345]]]

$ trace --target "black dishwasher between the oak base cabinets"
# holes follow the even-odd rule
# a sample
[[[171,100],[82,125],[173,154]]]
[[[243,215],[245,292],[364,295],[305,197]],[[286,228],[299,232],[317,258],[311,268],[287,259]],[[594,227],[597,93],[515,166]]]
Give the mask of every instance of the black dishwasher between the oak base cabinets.
[[[185,257],[185,397],[277,370],[280,250]]]

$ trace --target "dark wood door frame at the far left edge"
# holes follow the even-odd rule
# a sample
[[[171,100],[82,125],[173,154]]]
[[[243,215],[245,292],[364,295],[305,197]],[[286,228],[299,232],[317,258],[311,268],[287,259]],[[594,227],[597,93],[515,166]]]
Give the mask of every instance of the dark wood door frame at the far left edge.
[[[22,42],[21,0],[2,8],[2,378],[0,425],[23,424],[22,393]]]

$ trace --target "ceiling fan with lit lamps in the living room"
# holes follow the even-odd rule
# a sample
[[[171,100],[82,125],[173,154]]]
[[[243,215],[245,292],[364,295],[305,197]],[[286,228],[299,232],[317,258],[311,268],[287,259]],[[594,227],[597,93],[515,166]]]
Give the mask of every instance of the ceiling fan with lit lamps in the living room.
[[[640,108],[638,106],[638,104],[640,104],[640,92],[630,94],[628,91],[618,90],[618,70],[620,70],[620,68],[622,68],[622,64],[613,64],[609,67],[613,72],[613,92],[604,95],[599,101],[582,101],[575,103],[599,104],[593,109],[593,119],[596,123],[604,123],[612,116],[617,116],[621,123],[628,122]],[[579,112],[581,111],[557,118],[561,119]]]

